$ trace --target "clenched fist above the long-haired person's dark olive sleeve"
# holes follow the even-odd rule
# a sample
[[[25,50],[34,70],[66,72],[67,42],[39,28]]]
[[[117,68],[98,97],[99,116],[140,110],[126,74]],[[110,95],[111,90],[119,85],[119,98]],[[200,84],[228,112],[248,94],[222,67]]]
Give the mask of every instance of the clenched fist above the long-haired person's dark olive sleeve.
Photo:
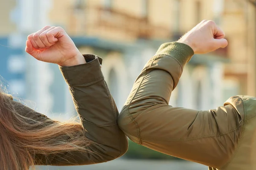
[[[46,26],[28,36],[26,52],[40,61],[60,66],[84,64],[85,59],[61,27]]]

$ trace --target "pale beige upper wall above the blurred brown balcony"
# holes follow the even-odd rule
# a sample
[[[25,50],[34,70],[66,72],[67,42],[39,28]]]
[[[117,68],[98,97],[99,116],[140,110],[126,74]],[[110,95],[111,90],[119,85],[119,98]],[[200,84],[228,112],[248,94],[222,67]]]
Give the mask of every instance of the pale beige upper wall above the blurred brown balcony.
[[[175,10],[178,9],[175,1],[177,0],[148,0],[149,22],[154,26],[162,26],[172,31],[175,22],[177,21],[177,11]],[[213,14],[211,11],[214,0],[180,0],[180,32],[186,32],[198,23],[195,12],[195,5],[197,1],[201,2],[201,17],[199,20],[212,19]],[[87,13],[82,12],[80,14],[74,14],[72,7],[75,1],[73,0],[53,0],[53,2],[54,7],[49,15],[52,23],[66,26],[67,29],[69,29],[67,23],[70,23],[70,20],[72,20],[73,23],[88,23],[92,20],[96,20],[97,14],[90,13],[89,15],[86,15]],[[104,6],[104,0],[86,0],[86,2],[87,8]],[[113,0],[112,8],[131,16],[143,17],[143,11],[145,8],[145,4],[143,2],[144,0]],[[75,15],[84,15],[84,17],[78,17]]]

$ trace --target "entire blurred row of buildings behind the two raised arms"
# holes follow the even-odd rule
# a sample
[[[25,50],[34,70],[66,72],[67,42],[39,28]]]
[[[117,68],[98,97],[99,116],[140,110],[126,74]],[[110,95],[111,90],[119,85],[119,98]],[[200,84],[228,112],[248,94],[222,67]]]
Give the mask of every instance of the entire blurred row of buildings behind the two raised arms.
[[[26,36],[45,25],[62,26],[82,53],[103,58],[102,71],[120,110],[137,75],[163,42],[178,40],[201,20],[215,20],[226,32],[228,48],[195,55],[170,105],[209,109],[233,95],[256,96],[256,14],[244,0],[0,0],[0,4],[0,14],[8,16],[0,26],[0,44],[8,46],[0,46],[6,57],[1,59],[0,74],[9,82],[9,91],[34,101],[42,113],[75,113],[58,67],[24,53]]]

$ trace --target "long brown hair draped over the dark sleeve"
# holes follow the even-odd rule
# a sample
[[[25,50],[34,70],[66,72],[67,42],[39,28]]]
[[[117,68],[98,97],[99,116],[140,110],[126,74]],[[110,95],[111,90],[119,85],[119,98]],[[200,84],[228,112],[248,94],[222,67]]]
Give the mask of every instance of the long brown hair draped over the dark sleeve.
[[[0,93],[1,170],[29,170],[56,154],[86,152],[89,144],[81,123],[53,121]]]

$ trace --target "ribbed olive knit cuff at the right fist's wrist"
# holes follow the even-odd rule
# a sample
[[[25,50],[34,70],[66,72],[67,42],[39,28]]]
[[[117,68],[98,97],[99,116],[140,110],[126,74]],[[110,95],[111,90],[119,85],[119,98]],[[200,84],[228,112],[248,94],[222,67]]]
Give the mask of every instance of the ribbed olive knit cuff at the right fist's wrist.
[[[194,55],[194,51],[189,45],[180,42],[164,43],[158,49],[156,55],[167,55],[174,57],[183,68]]]

